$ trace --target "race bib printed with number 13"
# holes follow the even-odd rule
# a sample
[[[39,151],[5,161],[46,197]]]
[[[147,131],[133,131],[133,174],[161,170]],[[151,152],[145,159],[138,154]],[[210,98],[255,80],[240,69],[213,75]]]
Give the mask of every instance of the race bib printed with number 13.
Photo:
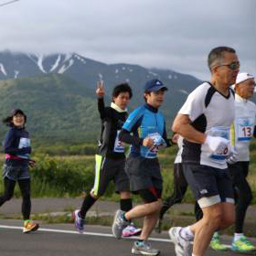
[[[254,129],[253,117],[239,117],[237,119],[237,133],[239,142],[251,141]]]

